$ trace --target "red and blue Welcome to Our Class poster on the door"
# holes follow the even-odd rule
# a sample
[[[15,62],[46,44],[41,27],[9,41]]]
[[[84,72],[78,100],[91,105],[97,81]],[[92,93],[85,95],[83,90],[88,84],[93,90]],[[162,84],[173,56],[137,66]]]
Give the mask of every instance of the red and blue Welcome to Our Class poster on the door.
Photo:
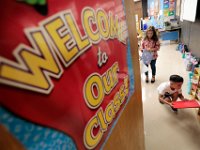
[[[100,149],[133,93],[121,0],[3,0],[0,123],[27,149]]]

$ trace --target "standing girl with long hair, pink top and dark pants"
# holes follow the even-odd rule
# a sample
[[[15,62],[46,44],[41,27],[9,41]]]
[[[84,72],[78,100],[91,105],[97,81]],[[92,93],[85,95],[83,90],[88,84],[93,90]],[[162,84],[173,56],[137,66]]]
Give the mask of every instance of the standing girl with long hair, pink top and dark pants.
[[[156,34],[156,30],[155,30],[154,26],[150,26],[146,31],[145,38],[142,40],[141,51],[143,52],[143,50],[147,50],[147,51],[150,51],[153,55],[153,59],[150,62],[150,66],[151,66],[151,70],[152,70],[151,83],[155,82],[156,60],[158,57],[157,51],[159,49],[160,49],[160,42],[159,42],[158,36]],[[148,66],[149,64],[145,64],[145,65]],[[145,75],[146,75],[145,81],[146,81],[146,83],[148,83],[149,82],[148,71],[145,72]]]

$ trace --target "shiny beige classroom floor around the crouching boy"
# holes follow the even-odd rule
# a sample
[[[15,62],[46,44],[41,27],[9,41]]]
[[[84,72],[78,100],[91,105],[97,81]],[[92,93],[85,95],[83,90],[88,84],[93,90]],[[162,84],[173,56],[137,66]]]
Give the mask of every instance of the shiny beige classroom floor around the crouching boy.
[[[184,79],[182,90],[186,98],[188,72],[176,44],[162,45],[157,60],[157,75],[154,84],[145,83],[142,75],[142,97],[146,150],[200,150],[200,117],[197,109],[181,109],[174,113],[167,105],[158,102],[156,88],[168,81],[171,74]]]

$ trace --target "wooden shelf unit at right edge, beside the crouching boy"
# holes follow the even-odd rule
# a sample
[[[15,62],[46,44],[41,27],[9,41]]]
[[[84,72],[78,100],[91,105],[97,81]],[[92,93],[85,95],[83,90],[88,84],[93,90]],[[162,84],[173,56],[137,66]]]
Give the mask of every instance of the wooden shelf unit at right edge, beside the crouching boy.
[[[200,68],[194,69],[194,74],[191,79],[190,94],[193,99],[200,101]],[[198,115],[200,115],[200,108],[198,110]]]

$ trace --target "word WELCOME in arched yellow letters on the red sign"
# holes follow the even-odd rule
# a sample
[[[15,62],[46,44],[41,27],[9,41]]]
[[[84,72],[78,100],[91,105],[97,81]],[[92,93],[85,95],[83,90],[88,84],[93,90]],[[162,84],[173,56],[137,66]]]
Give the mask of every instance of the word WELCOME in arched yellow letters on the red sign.
[[[69,10],[57,13],[25,30],[31,47],[19,44],[13,50],[16,62],[0,56],[0,83],[34,92],[49,94],[54,85],[50,77],[59,79],[92,44],[117,38],[125,44],[125,21],[103,9],[85,7],[82,26]],[[80,32],[80,29],[83,32]]]

